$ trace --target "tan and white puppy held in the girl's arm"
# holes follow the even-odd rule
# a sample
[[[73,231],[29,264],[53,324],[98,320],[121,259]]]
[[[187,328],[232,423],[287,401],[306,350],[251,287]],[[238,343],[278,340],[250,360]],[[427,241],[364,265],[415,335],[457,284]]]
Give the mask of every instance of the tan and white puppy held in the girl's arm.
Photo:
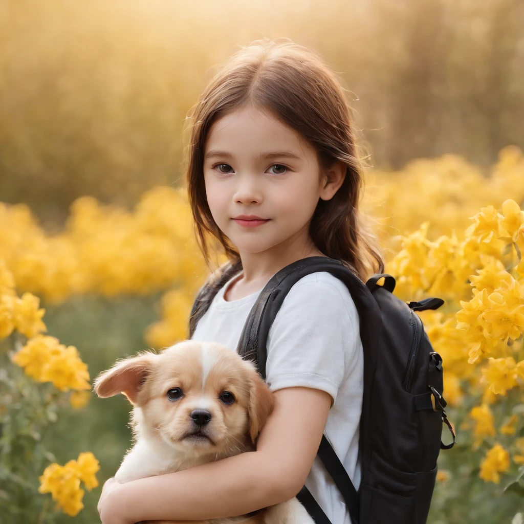
[[[254,451],[257,435],[274,406],[270,390],[252,363],[208,342],[184,341],[159,354],[144,352],[117,362],[95,379],[94,390],[102,398],[122,392],[133,405],[134,446],[115,474],[119,483]],[[293,498],[254,515],[200,524],[314,521]]]

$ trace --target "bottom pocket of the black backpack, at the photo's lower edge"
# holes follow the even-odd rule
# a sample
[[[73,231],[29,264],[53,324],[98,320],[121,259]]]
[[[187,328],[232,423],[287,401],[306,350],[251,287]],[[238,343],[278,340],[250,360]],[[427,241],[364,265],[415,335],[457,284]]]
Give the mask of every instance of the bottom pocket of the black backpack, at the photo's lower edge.
[[[424,524],[436,478],[429,472],[406,473],[373,453],[368,484],[362,485],[361,524]]]

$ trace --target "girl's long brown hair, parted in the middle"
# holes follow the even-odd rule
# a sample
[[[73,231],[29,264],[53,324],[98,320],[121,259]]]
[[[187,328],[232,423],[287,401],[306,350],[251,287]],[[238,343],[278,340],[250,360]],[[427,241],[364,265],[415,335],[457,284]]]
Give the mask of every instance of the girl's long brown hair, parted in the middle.
[[[269,111],[296,129],[316,149],[324,169],[341,161],[346,176],[328,201],[319,200],[310,235],[324,254],[340,260],[363,281],[383,272],[378,239],[358,210],[364,163],[358,158],[351,109],[334,73],[320,57],[289,40],[256,40],[222,64],[192,114],[187,181],[195,235],[206,262],[206,237],[217,239],[233,264],[239,254],[215,224],[206,199],[203,156],[209,129],[217,119],[246,104]]]

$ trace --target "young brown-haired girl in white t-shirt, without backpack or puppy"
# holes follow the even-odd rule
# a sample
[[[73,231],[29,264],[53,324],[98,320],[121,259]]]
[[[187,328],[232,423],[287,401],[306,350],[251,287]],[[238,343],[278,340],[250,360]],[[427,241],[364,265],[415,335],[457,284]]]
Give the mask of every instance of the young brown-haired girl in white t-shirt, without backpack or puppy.
[[[202,252],[208,259],[212,235],[242,262],[193,339],[236,348],[260,290],[301,258],[335,258],[363,281],[383,272],[358,211],[363,175],[350,110],[316,54],[272,40],[234,54],[196,105],[189,155]],[[325,432],[358,489],[363,348],[345,285],[327,272],[299,280],[271,326],[267,352],[276,407],[257,450],[122,485],[109,479],[99,503],[103,524],[243,515],[294,497],[304,484],[333,524],[350,524],[315,458]]]

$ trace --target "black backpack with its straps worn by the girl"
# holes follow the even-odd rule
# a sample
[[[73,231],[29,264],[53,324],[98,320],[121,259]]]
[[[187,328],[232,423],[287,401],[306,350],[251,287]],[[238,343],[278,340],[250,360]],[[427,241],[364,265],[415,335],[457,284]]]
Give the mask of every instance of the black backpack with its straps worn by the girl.
[[[217,291],[242,270],[227,264],[208,281],[193,304],[190,336]],[[364,283],[337,260],[309,257],[286,266],[269,280],[250,311],[238,342],[243,358],[266,378],[266,342],[286,294],[305,275],[327,271],[342,280],[359,314],[364,348],[364,393],[359,427],[361,483],[358,492],[325,435],[318,456],[339,488],[352,524],[424,524],[428,518],[441,449],[455,435],[442,398],[442,358],[433,351],[419,316],[444,301],[403,302],[392,294],[395,278],[376,274]],[[377,284],[384,277],[384,285]],[[441,442],[442,422],[453,441]],[[297,495],[316,524],[331,524],[304,486]],[[332,524],[340,524],[334,522]]]

